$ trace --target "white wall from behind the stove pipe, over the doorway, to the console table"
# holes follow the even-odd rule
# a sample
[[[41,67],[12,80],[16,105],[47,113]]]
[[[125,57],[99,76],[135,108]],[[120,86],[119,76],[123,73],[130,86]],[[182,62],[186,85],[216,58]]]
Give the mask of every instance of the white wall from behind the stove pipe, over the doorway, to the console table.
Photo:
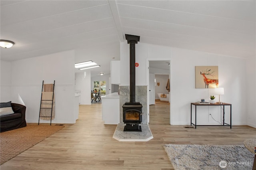
[[[121,85],[129,85],[129,65],[127,64],[129,63],[129,44],[127,42],[120,43],[120,54]],[[200,65],[218,65],[219,87],[224,87],[225,91],[220,98],[222,102],[232,104],[232,125],[247,125],[244,116],[246,109],[255,111],[255,106],[252,109],[252,106],[246,108],[246,59],[138,42],[136,62],[140,66],[136,67],[136,85],[147,85],[146,61],[154,59],[170,60],[170,122],[172,125],[190,125],[190,103],[202,98],[207,101],[210,95],[213,95],[211,89],[195,88],[195,66]],[[253,74],[255,77],[255,73]],[[225,107],[226,123],[230,122],[229,111],[230,109]],[[222,120],[220,107],[204,106],[198,109],[197,113],[198,125],[218,125],[209,113],[217,121]]]

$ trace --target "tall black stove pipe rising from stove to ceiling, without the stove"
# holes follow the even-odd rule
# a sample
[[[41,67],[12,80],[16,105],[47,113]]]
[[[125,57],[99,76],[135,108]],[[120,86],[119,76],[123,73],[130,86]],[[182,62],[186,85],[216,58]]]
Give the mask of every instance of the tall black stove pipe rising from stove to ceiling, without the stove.
[[[125,34],[127,43],[130,44],[130,103],[135,101],[135,44],[140,41],[140,36]]]

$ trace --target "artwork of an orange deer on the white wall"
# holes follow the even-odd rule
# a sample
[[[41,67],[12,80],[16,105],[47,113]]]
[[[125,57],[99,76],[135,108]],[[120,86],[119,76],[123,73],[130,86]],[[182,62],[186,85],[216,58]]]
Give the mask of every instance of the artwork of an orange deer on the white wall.
[[[218,87],[218,66],[195,66],[195,73],[196,89],[208,89]]]

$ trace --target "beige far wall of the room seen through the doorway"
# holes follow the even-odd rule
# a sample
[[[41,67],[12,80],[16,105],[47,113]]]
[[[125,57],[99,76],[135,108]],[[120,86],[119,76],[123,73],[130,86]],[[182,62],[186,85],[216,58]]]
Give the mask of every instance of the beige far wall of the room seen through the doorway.
[[[168,90],[166,90],[166,85],[167,85],[167,81],[169,79],[169,75],[156,74],[155,79],[156,79],[155,99],[159,99],[157,93],[169,94]],[[157,85],[158,82],[160,83],[159,86]]]

